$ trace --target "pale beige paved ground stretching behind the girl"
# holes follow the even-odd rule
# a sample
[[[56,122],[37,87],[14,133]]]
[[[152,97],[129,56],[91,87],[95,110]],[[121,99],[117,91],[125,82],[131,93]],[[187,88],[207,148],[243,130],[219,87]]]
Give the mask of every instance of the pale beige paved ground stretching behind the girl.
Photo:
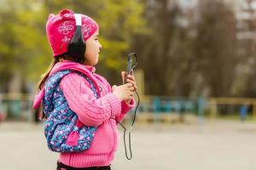
[[[122,133],[120,131],[119,137]],[[118,170],[255,170],[256,122],[205,125],[137,125],[133,159],[127,161],[120,138],[113,161]],[[0,169],[53,170],[57,155],[44,140],[43,126],[0,124]]]

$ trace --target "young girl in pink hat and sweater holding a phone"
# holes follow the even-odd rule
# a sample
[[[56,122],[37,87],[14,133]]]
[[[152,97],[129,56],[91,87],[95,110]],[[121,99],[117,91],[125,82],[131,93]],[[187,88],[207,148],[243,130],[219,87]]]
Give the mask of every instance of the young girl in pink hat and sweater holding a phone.
[[[46,31],[54,61],[39,82],[33,108],[43,102],[49,150],[60,152],[57,169],[110,169],[117,122],[135,105],[135,77],[111,88],[95,73],[102,45],[90,17],[64,9],[49,15]]]

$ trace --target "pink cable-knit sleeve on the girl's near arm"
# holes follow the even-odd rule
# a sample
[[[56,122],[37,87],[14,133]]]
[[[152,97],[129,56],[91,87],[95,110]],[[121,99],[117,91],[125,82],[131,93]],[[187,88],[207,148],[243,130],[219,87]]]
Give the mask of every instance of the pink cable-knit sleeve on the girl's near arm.
[[[108,93],[96,99],[85,81],[84,77],[70,73],[62,78],[60,84],[70,109],[79,116],[79,121],[86,126],[95,127],[111,116],[118,116],[121,112],[121,102],[117,96]]]

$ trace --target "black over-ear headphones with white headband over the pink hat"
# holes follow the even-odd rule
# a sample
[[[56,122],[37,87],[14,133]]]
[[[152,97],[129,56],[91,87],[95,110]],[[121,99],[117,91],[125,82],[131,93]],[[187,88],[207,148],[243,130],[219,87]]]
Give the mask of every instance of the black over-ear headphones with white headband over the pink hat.
[[[76,31],[68,42],[67,55],[73,57],[77,62],[84,60],[85,42],[82,34],[82,15],[74,14],[76,20]]]

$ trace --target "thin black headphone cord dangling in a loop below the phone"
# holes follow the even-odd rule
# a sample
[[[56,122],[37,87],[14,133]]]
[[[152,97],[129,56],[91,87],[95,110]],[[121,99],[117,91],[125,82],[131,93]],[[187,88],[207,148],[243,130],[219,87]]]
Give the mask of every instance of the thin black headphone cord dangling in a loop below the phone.
[[[137,91],[135,91],[135,93],[137,94]],[[115,120],[116,122],[118,122],[119,125],[121,125],[121,127],[124,128],[125,156],[126,156],[126,158],[127,158],[128,160],[131,160],[131,158],[132,158],[132,151],[131,151],[131,129],[132,129],[134,123],[135,123],[137,108],[138,108],[138,106],[140,105],[140,102],[141,102],[140,96],[139,96],[139,94],[137,94],[137,105],[136,105],[136,108],[135,108],[135,111],[134,111],[134,116],[133,116],[133,119],[132,119],[132,122],[131,122],[131,127],[130,127],[130,130],[129,130],[129,132],[128,132],[128,135],[129,135],[129,140],[128,140],[128,142],[129,142],[130,156],[128,156],[127,147],[126,147],[126,139],[125,139],[125,137],[126,137],[126,128],[125,128],[125,126],[124,126],[122,123],[118,122],[115,118],[112,117],[113,120]]]

